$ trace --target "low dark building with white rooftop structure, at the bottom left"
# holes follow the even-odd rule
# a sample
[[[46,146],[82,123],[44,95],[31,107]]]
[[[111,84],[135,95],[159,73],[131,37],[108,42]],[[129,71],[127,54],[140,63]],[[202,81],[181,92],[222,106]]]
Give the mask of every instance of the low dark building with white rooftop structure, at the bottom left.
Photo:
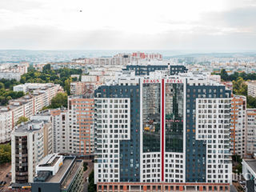
[[[32,192],[83,190],[82,160],[72,156],[50,154],[36,167]]]

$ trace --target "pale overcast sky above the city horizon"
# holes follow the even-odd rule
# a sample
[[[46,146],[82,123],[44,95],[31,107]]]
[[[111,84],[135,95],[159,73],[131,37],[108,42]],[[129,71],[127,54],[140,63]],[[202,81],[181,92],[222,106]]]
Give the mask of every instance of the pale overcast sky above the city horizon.
[[[0,0],[0,49],[256,50],[256,0]]]

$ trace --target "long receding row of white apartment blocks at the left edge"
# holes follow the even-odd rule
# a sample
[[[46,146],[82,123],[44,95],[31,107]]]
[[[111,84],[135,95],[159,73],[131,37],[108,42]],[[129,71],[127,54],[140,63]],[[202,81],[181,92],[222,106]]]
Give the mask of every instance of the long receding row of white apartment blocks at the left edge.
[[[52,83],[29,83],[26,85],[30,94],[22,98],[10,100],[8,106],[0,106],[0,143],[10,141],[10,132],[18,122],[18,118],[30,118],[44,106],[49,106],[51,99],[62,91],[62,87]]]

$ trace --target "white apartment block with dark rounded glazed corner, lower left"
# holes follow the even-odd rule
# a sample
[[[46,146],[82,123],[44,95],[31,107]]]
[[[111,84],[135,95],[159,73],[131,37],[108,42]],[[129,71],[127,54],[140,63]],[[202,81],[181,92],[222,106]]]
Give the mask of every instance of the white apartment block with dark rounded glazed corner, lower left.
[[[32,120],[15,127],[11,134],[11,182],[33,182],[38,162],[53,153],[51,122]]]

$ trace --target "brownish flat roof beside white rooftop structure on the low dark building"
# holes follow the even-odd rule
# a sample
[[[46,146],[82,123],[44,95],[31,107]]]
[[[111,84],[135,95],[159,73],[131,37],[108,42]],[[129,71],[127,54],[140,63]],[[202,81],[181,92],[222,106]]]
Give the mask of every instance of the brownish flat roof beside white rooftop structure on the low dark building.
[[[74,161],[74,158],[64,158],[63,164],[59,168],[57,174],[47,178],[46,182],[61,182],[64,174],[66,174],[66,171],[69,169],[73,161]]]

